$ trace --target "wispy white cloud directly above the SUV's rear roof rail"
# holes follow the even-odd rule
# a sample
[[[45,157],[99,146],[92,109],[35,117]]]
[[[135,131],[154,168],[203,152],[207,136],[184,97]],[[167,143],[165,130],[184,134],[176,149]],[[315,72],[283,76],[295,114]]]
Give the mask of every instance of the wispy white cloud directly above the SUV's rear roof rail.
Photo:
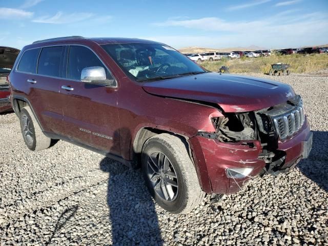
[[[81,12],[81,13],[72,13],[72,14],[64,14],[61,11],[58,11],[55,15],[49,16],[41,16],[39,18],[33,19],[33,22],[37,23],[48,23],[48,24],[69,24],[69,23],[76,23],[81,22],[83,20],[90,19],[95,14]]]

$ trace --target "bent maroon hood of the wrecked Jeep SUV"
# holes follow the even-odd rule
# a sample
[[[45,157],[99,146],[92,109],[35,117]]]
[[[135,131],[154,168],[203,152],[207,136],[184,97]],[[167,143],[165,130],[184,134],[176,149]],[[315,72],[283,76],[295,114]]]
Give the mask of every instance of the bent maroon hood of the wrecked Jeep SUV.
[[[269,108],[295,96],[286,84],[258,77],[203,73],[145,83],[153,95],[218,104],[224,112]]]

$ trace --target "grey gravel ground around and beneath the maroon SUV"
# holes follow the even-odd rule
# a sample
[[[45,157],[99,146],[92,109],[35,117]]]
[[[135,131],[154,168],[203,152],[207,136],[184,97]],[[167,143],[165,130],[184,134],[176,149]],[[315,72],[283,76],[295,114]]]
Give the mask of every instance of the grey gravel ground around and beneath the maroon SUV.
[[[271,77],[303,97],[310,157],[188,215],[154,204],[140,170],[64,141],[29,151],[15,114],[0,115],[0,245],[328,245],[327,74]]]

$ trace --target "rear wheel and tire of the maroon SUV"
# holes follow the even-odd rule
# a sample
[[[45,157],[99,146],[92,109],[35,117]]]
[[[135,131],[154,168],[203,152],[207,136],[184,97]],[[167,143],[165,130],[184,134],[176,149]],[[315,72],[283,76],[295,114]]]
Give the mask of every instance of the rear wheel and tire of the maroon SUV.
[[[42,132],[30,107],[24,107],[20,111],[19,120],[23,139],[30,150],[39,151],[50,147],[51,138]]]

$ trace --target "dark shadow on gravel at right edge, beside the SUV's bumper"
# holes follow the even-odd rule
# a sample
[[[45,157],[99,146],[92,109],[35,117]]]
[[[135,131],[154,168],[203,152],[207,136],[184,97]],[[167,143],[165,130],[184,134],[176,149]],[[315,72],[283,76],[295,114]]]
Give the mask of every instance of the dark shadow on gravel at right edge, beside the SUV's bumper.
[[[328,132],[313,131],[313,146],[308,159],[298,163],[299,170],[328,192]]]

